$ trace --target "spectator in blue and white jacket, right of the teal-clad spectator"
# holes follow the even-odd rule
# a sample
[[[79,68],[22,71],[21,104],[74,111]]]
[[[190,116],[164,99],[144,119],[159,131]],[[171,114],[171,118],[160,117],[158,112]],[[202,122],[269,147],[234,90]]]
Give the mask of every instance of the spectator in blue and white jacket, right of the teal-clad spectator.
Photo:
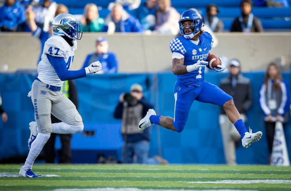
[[[138,19],[126,12],[120,4],[115,4],[110,14],[105,18],[103,31],[113,34],[116,32],[143,32],[143,29]]]

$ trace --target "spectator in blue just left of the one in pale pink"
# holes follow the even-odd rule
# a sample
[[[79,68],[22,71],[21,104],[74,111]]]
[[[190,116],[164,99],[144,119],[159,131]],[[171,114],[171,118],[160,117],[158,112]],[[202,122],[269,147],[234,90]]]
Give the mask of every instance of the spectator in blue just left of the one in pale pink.
[[[156,24],[157,0],[146,0],[137,11],[137,18],[144,30],[153,31]]]

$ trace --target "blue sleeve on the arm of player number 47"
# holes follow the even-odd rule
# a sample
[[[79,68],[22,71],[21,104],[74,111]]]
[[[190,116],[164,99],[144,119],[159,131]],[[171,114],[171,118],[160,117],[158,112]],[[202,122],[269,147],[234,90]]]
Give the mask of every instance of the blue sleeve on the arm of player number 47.
[[[86,77],[85,68],[82,68],[80,70],[67,70],[67,65],[64,57],[54,57],[48,54],[47,57],[50,61],[50,64],[56,70],[56,73],[58,74],[58,77],[61,81]]]

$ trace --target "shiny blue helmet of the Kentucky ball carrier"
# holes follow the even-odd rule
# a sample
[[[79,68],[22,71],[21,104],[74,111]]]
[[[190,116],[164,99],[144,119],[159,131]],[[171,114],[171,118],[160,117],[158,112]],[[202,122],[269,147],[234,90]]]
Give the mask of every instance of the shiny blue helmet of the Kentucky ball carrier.
[[[193,22],[192,25],[183,26],[183,21],[185,20],[192,21]],[[184,29],[186,27],[189,27],[192,33],[190,33],[190,31],[188,33],[185,33]],[[183,34],[185,38],[192,39],[195,35],[200,33],[200,30],[202,28],[202,17],[200,13],[195,9],[188,9],[184,11],[179,20],[179,28],[180,28],[181,34]]]

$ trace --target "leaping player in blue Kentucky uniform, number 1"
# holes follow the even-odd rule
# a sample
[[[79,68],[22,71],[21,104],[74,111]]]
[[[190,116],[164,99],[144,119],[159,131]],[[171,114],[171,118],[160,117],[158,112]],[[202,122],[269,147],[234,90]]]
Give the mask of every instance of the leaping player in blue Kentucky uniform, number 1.
[[[241,135],[243,147],[249,147],[260,140],[262,132],[247,132],[238,110],[233,103],[233,97],[226,94],[219,87],[204,80],[204,69],[208,65],[206,58],[211,50],[213,39],[207,32],[201,30],[202,17],[194,9],[186,10],[179,20],[181,36],[170,42],[172,54],[172,70],[177,75],[174,87],[175,111],[174,118],[156,115],[153,109],[140,121],[139,130],[160,125],[175,132],[183,131],[188,120],[189,111],[194,100],[222,106],[236,129]],[[217,72],[223,71],[225,65],[220,59],[220,65],[213,68]]]

